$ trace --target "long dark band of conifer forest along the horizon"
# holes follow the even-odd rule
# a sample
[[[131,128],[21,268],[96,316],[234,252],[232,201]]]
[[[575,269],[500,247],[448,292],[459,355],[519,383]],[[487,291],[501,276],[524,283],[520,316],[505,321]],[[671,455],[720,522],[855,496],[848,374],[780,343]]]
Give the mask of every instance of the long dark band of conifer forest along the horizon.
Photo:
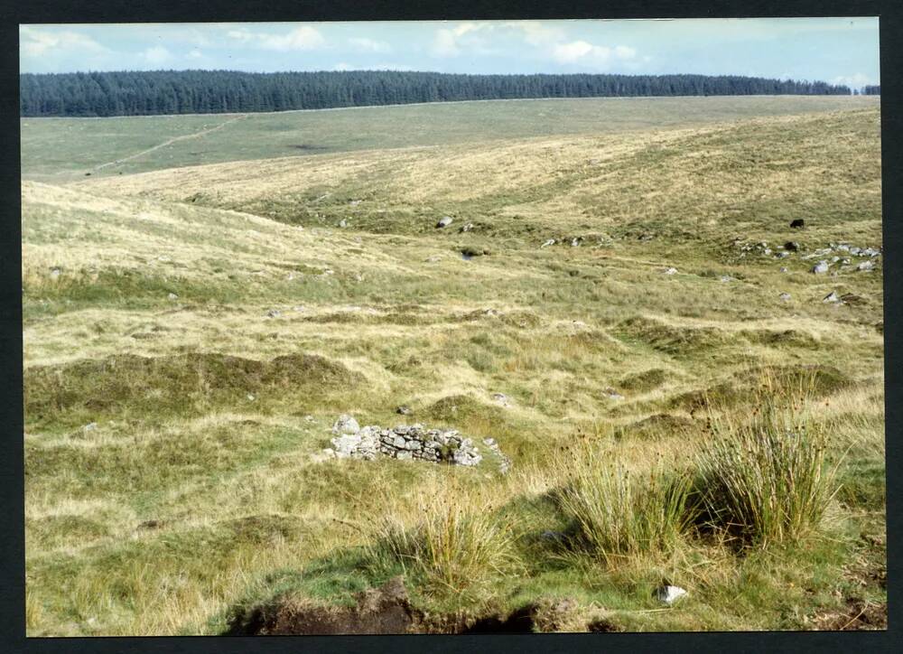
[[[26,73],[23,117],[215,114],[510,98],[850,95],[846,86],[734,75],[461,75],[397,70]]]

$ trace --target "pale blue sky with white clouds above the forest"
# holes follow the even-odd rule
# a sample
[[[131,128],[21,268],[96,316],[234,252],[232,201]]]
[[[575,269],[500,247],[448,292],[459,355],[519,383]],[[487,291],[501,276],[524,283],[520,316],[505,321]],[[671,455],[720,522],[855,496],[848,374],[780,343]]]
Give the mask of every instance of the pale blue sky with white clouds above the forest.
[[[431,70],[880,83],[878,18],[20,25],[22,72]]]

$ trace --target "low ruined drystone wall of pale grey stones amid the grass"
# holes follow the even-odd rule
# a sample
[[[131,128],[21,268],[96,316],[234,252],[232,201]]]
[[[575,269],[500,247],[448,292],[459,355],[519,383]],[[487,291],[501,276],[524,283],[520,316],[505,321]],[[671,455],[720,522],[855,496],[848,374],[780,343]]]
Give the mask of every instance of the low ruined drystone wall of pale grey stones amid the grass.
[[[354,417],[339,416],[332,425],[332,447],[323,452],[338,459],[373,461],[377,456],[400,460],[449,463],[476,466],[483,460],[470,438],[457,429],[425,429],[423,425],[361,427]],[[495,439],[486,438],[483,444],[499,461],[499,470],[507,472],[510,460],[498,449]]]

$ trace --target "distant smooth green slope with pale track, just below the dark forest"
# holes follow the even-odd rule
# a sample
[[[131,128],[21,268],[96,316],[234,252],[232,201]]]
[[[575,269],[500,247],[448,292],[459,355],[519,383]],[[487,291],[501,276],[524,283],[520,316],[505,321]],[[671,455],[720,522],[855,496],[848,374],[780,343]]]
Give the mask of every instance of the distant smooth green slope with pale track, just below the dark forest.
[[[38,182],[66,182],[88,173],[144,173],[243,159],[606,134],[876,105],[876,98],[838,96],[587,98],[231,116],[23,118],[22,174]],[[217,126],[222,127],[210,131]]]

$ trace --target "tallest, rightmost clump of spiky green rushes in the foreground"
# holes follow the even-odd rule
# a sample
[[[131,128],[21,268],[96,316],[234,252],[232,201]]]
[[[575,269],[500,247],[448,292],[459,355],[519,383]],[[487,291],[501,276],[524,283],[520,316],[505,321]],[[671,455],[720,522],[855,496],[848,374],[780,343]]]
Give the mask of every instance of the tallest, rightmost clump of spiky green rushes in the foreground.
[[[837,491],[824,433],[802,411],[802,403],[768,401],[742,425],[713,420],[715,438],[696,456],[707,520],[741,545],[805,537]]]

